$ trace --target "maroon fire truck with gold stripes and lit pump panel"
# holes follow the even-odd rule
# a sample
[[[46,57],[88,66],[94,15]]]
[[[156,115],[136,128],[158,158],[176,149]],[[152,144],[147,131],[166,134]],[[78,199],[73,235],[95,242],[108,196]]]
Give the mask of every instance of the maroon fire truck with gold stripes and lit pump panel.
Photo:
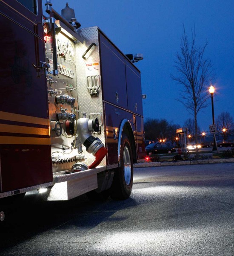
[[[125,55],[66,3],[0,0],[0,221],[5,201],[131,195],[145,156],[141,54]]]

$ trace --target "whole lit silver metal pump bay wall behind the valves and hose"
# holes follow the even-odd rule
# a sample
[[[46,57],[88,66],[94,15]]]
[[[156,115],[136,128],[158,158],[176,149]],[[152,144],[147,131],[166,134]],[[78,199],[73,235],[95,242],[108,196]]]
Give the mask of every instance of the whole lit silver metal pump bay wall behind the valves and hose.
[[[48,90],[49,90],[49,116],[51,127],[51,153],[53,163],[53,173],[66,171],[71,169],[74,162],[74,158],[78,156],[77,149],[71,146],[71,143],[75,137],[67,136],[66,123],[62,121],[62,135],[57,136],[54,129],[56,125],[56,113],[62,112],[62,109],[66,109],[68,113],[73,112],[71,106],[66,104],[57,104],[56,96],[68,95],[76,99],[75,107],[79,113],[77,117],[82,117],[82,113],[87,113],[87,117],[90,119],[98,118],[100,123],[103,124],[103,104],[101,88],[99,89],[99,96],[92,97],[89,90],[86,87],[87,76],[96,76],[97,82],[101,83],[100,77],[100,65],[99,65],[99,46],[98,46],[98,29],[97,27],[81,29],[80,36],[83,38],[83,43],[80,41],[74,42],[73,39],[69,39],[63,33],[56,36],[57,40],[57,56],[58,56],[58,70],[59,75],[57,77],[49,76]],[[82,55],[90,46],[95,43],[97,46],[92,47],[86,55],[86,60],[82,58]],[[74,49],[74,51],[73,51]],[[49,60],[52,68],[52,49],[50,42],[46,44],[46,57]],[[95,68],[92,70],[91,66],[87,68],[88,64],[94,64]],[[94,67],[94,66],[92,66]],[[66,72],[65,72],[66,70]],[[68,71],[73,75],[68,76]],[[98,79],[97,79],[98,78]],[[91,116],[89,114],[92,113]],[[99,139],[105,144],[103,125],[100,127],[101,134],[93,134],[94,137]],[[79,159],[82,159],[86,165],[90,165],[95,157],[86,152],[86,148],[83,147],[83,153],[79,155]],[[106,159],[104,159],[101,165],[106,165]]]

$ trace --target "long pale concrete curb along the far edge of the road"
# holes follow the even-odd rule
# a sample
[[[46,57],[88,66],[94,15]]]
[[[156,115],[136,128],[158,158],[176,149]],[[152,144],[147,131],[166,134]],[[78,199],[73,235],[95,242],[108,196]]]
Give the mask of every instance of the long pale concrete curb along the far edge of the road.
[[[177,162],[144,162],[144,163],[134,163],[133,167],[140,168],[140,167],[155,167],[155,166],[180,166],[180,165],[195,165],[195,164],[209,164],[209,163],[234,163],[234,158],[188,160],[188,161],[177,161]]]

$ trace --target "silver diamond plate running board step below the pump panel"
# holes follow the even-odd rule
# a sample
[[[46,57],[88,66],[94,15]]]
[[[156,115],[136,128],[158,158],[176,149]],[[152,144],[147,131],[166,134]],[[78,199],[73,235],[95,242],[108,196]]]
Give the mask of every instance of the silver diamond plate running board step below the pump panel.
[[[97,173],[106,170],[106,166],[100,166],[85,171],[53,175],[54,186],[47,194],[47,201],[66,201],[97,189]]]

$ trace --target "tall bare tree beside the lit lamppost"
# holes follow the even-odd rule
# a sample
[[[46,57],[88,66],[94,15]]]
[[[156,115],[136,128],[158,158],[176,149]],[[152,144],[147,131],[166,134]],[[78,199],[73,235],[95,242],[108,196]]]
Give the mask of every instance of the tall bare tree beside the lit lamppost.
[[[203,47],[197,47],[195,28],[191,29],[191,41],[189,41],[183,26],[180,52],[176,54],[174,66],[178,73],[175,76],[171,75],[172,80],[183,86],[183,89],[179,90],[181,98],[177,100],[194,116],[196,144],[198,142],[197,113],[207,107],[206,101],[210,98],[207,89],[214,79],[211,61],[204,56],[207,44],[208,42]]]

